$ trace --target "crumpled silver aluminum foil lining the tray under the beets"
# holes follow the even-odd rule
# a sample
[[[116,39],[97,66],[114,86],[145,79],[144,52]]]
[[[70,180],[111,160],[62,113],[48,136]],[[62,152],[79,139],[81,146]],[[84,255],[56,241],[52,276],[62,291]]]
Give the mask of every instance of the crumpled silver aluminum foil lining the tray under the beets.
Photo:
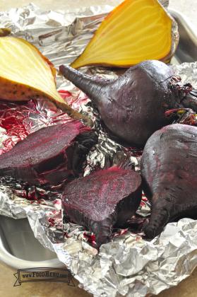
[[[160,2],[166,6],[168,4],[165,0]],[[69,64],[82,52],[97,25],[110,10],[110,6],[97,6],[72,12],[43,12],[30,4],[25,8],[0,12],[1,27],[11,28],[14,35],[35,44],[55,66],[59,66]],[[183,81],[189,81],[197,87],[197,63],[173,67]],[[117,75],[102,68],[89,68],[88,71],[107,78]],[[57,78],[57,85],[59,90],[71,92],[66,95],[66,99],[73,108],[88,113],[95,120],[95,126],[99,125],[97,114],[82,92],[61,77]],[[24,123],[27,134],[40,127],[56,124],[54,118],[58,118],[59,123],[69,120],[59,110],[53,110],[49,103],[40,101],[36,106],[34,104],[30,102],[28,105],[28,122]],[[0,135],[0,148],[4,151],[10,139],[2,128]],[[19,134],[18,137],[13,144],[23,139],[25,134]],[[108,139],[102,131],[99,144],[88,155],[88,161],[92,162],[93,167],[97,163],[103,167],[108,162],[118,163],[126,154],[128,151]],[[138,170],[138,154],[131,155],[130,163]],[[90,170],[87,166],[85,174],[90,173]],[[148,204],[144,199],[139,213],[147,216],[148,212]],[[56,252],[59,260],[75,274],[80,286],[94,296],[143,297],[148,293],[157,294],[177,285],[197,265],[197,221],[191,219],[169,223],[160,237],[152,241],[143,240],[140,233],[136,235],[128,230],[118,230],[112,243],[102,245],[98,255],[97,250],[89,245],[92,243],[91,234],[84,233],[81,226],[63,220],[59,197],[49,201],[31,201],[17,197],[9,187],[0,185],[0,214],[14,219],[27,216],[35,237],[44,247]]]

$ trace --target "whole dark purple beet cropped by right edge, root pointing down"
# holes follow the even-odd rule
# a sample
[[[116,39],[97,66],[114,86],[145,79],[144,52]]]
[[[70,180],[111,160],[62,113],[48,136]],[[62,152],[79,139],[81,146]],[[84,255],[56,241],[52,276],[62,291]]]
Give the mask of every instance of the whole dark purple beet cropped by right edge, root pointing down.
[[[197,219],[197,127],[172,124],[155,132],[141,160],[144,192],[152,202],[146,238],[183,217]]]

